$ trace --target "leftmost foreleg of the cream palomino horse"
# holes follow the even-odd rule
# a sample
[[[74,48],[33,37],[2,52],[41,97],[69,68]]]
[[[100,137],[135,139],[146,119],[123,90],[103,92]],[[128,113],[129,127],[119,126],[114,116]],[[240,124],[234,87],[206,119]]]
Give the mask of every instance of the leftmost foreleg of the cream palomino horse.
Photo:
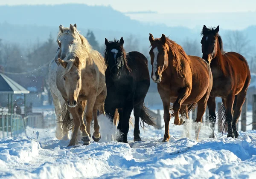
[[[68,111],[70,111],[70,114],[73,116],[73,122],[74,122],[74,128],[73,128],[73,134],[70,140],[70,143],[68,147],[76,145],[77,144],[77,134],[79,131],[80,127],[80,121],[79,121],[79,116],[76,114],[76,109],[75,108],[70,108],[67,106]]]

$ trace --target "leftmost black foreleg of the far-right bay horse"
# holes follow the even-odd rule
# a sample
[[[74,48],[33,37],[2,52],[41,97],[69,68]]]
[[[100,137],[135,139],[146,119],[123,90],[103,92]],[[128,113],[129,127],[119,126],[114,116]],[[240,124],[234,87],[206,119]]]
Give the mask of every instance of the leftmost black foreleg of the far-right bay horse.
[[[215,130],[215,122],[216,122],[216,103],[215,103],[215,97],[209,97],[207,101],[208,109],[209,109],[209,122],[210,122],[210,135],[209,138],[214,138],[214,130]]]

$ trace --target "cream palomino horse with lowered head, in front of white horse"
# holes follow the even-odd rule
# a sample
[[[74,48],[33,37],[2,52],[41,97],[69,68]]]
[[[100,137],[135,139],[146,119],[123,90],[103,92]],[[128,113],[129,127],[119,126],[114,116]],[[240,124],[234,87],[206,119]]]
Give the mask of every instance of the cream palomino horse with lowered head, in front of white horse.
[[[63,111],[61,111],[61,115],[65,116],[63,128],[71,129],[70,124],[74,122],[73,136],[68,146],[76,145],[79,127],[84,145],[90,144],[90,122],[92,118],[94,119],[93,140],[98,142],[101,138],[97,111],[100,106],[103,106],[100,112],[105,114],[104,101],[107,96],[105,83],[106,66],[99,52],[87,50],[88,48],[84,45],[76,43],[72,45],[71,52],[66,55],[64,60],[58,59],[60,65],[56,74],[57,88],[67,103],[67,110],[73,116],[73,119],[70,119],[66,109],[63,108]],[[85,118],[87,128],[83,120],[86,101]]]

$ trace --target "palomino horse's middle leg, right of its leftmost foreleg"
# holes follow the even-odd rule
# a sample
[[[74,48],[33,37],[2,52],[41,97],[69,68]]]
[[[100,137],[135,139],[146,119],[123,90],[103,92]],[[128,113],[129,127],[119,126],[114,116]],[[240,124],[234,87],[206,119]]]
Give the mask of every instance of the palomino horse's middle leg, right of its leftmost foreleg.
[[[82,132],[81,140],[84,141],[84,145],[89,145],[90,144],[90,135],[89,135],[90,134],[90,122],[92,121],[92,118],[93,118],[93,110],[92,110],[91,102],[90,102],[89,99],[88,99],[88,105],[87,105],[86,114],[85,114],[87,128],[84,125],[84,118],[83,118],[84,108],[85,108],[86,102],[82,101],[82,104],[81,104],[80,101],[79,101],[77,106],[76,106],[76,113],[79,116],[80,130]],[[89,128],[89,130],[88,130],[88,128]],[[88,134],[87,131],[89,131],[89,134]]]

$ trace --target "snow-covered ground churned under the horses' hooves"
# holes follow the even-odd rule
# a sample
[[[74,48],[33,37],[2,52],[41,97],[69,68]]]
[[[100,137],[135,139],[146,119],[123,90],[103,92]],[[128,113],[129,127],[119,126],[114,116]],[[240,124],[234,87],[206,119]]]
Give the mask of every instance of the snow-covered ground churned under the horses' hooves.
[[[99,121],[102,139],[89,146],[66,147],[69,141],[57,140],[53,128],[27,128],[27,136],[0,139],[0,178],[256,178],[256,131],[239,132],[239,139],[209,139],[203,126],[197,142],[192,127],[187,139],[183,126],[170,124],[171,139],[162,143],[164,131],[154,128],[141,129],[143,141],[133,142],[131,127],[125,144],[106,142],[104,136],[115,130],[103,117]]]

